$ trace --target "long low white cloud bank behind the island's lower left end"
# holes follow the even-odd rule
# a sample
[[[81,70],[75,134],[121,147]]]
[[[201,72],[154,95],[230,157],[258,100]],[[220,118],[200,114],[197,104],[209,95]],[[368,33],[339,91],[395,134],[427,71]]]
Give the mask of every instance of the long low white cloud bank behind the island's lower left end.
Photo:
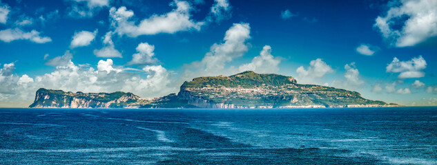
[[[34,78],[14,74],[14,69],[14,63],[0,69],[0,107],[27,107],[40,87],[73,92],[126,91],[143,98],[177,91],[171,74],[161,65],[147,65],[142,72],[127,72],[127,68],[115,66],[111,59],[99,61],[97,69],[68,61],[55,71]]]

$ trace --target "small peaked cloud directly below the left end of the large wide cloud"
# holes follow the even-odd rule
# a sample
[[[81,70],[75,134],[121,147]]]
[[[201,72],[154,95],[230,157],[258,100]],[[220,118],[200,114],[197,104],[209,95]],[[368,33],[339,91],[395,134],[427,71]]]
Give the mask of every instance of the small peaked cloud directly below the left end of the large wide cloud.
[[[104,47],[100,50],[94,50],[95,56],[104,58],[119,57],[122,58],[122,53],[115,49],[113,40],[111,39],[113,32],[107,32],[103,37]]]

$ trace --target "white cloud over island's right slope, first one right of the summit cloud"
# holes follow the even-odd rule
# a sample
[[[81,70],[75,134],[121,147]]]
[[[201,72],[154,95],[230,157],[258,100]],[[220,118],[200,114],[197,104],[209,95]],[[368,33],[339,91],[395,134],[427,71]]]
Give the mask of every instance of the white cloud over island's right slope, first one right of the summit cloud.
[[[328,73],[333,72],[331,66],[327,65],[322,59],[317,58],[309,63],[309,67],[307,69],[304,66],[298,67],[296,69],[296,73],[298,73],[298,82],[299,83],[311,83],[311,84],[321,84],[320,79]]]

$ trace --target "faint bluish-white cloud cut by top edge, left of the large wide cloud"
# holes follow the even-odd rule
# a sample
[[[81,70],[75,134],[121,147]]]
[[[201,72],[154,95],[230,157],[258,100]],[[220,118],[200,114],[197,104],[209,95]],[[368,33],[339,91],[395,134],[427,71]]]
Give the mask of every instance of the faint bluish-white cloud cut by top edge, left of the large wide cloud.
[[[68,15],[73,18],[93,17],[101,8],[109,6],[109,0],[66,0],[70,3]]]

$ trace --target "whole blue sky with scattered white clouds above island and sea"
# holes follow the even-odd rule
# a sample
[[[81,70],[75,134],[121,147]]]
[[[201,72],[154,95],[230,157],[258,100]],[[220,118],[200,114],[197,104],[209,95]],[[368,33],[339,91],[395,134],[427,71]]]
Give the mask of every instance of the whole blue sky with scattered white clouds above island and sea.
[[[437,1],[0,1],[0,107],[245,70],[437,105]]]

